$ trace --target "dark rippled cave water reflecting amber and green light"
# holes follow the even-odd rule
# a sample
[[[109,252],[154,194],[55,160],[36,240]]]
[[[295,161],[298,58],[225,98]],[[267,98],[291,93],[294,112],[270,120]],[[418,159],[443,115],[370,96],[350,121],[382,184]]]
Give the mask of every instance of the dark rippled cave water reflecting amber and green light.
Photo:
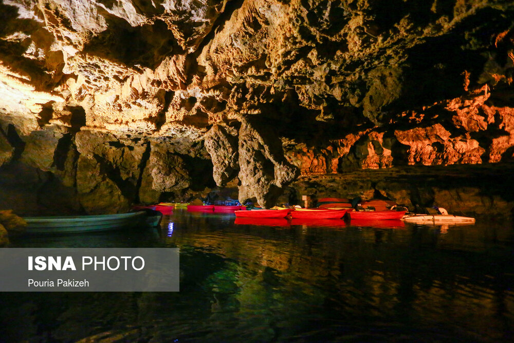
[[[177,210],[160,229],[13,241],[13,247],[179,247],[181,291],[3,293],[0,340],[514,338],[512,224],[234,219]]]

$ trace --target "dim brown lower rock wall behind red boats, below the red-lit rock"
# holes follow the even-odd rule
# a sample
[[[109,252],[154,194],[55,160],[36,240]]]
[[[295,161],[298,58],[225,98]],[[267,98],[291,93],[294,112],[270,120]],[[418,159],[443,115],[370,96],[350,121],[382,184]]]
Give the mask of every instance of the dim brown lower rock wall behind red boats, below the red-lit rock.
[[[340,194],[348,198],[390,198],[410,211],[432,213],[433,206],[451,214],[482,219],[514,219],[509,186],[514,165],[409,166],[354,171],[337,175],[301,176],[290,187],[314,200]],[[505,180],[499,183],[498,180]],[[287,202],[286,198],[281,198]]]

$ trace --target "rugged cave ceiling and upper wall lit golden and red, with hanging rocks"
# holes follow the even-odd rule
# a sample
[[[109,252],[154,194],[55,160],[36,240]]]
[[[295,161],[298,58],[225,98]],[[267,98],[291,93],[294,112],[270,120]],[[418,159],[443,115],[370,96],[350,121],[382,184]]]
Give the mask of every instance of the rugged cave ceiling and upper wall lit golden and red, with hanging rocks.
[[[513,17],[478,0],[4,0],[0,165],[106,213],[509,163]]]

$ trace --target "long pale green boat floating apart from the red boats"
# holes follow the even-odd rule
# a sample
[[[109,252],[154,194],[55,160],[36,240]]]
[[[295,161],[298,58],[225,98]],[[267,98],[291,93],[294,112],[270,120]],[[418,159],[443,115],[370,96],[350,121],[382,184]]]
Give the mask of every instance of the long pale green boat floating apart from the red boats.
[[[27,222],[25,233],[48,234],[48,233],[77,233],[116,230],[131,228],[144,220],[144,211],[102,214],[102,215],[70,215],[70,216],[48,216],[48,217],[26,217]]]

